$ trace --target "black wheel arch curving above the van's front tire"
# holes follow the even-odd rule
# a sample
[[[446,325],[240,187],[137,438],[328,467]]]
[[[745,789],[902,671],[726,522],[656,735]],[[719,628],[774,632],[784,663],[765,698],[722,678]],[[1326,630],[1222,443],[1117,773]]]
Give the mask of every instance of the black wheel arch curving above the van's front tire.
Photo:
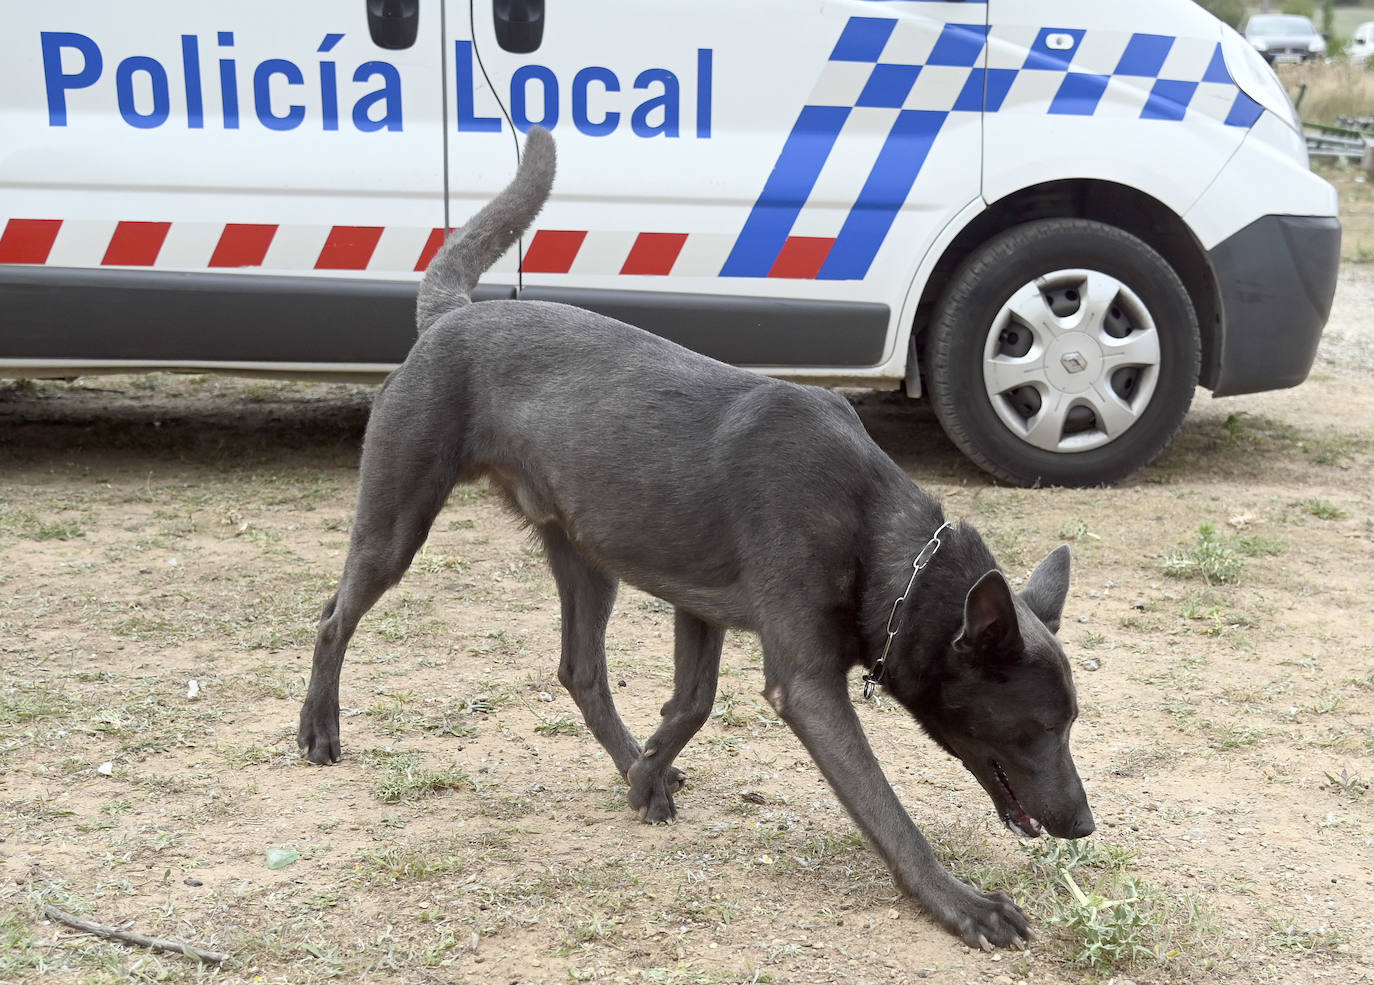
[[[1224,324],[1216,273],[1187,224],[1158,199],[1113,181],[1074,179],[1021,188],[980,212],[945,247],[921,291],[912,326],[915,365],[926,330],[954,272],[980,246],[1014,225],[1040,218],[1088,218],[1129,232],[1173,268],[1197,310],[1202,360],[1198,382],[1216,385]]]

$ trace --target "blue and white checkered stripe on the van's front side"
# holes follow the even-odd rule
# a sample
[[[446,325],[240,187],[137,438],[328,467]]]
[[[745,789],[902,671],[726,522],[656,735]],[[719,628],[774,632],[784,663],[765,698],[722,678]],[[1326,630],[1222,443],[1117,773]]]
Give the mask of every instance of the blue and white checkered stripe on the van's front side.
[[[1194,107],[1237,128],[1252,126],[1263,113],[1235,85],[1220,44],[1200,60],[1191,56],[1197,52],[1180,58],[1173,37],[1132,34],[1124,51],[1110,52],[1107,65],[1088,32],[1046,27],[1032,44],[1020,45],[1026,52],[1021,67],[988,69],[988,34],[985,23],[947,23],[932,41],[932,32],[916,32],[910,21],[849,18],[720,276],[769,275],[856,110],[888,109],[896,118],[818,280],[861,280],[868,273],[952,113],[1092,117],[1136,111],[1139,104],[1142,120],[1182,121]],[[1198,98],[1202,89],[1205,99]]]

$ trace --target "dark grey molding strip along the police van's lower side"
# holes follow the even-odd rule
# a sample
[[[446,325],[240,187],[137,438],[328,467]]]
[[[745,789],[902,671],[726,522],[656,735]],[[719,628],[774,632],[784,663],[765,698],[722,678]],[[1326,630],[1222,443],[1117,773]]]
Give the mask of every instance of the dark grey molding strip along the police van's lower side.
[[[415,341],[414,280],[0,265],[7,360],[387,364]],[[480,284],[474,301],[514,297]],[[888,306],[719,294],[528,288],[738,365],[881,361]],[[4,375],[0,371],[0,375]]]

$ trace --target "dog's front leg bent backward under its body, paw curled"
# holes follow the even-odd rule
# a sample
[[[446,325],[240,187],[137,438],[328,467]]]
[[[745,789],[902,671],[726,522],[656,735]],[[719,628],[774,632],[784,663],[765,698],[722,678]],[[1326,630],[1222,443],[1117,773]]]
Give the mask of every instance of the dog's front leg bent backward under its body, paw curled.
[[[720,676],[723,626],[677,610],[673,625],[673,697],[664,705],[664,720],[644,743],[644,754],[629,768],[629,805],[650,824],[672,820],[677,811],[672,791],[683,773],[673,760],[697,735],[716,701]]]

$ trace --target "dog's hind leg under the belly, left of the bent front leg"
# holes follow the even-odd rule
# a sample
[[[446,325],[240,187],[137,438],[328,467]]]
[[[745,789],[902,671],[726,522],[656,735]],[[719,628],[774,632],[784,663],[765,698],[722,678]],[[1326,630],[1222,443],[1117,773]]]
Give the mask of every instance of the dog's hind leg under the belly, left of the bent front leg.
[[[539,532],[563,604],[558,680],[577,702],[587,728],[625,776],[639,758],[639,742],[621,721],[606,677],[606,622],[616,604],[617,581],[583,558],[556,525],[544,525]]]

